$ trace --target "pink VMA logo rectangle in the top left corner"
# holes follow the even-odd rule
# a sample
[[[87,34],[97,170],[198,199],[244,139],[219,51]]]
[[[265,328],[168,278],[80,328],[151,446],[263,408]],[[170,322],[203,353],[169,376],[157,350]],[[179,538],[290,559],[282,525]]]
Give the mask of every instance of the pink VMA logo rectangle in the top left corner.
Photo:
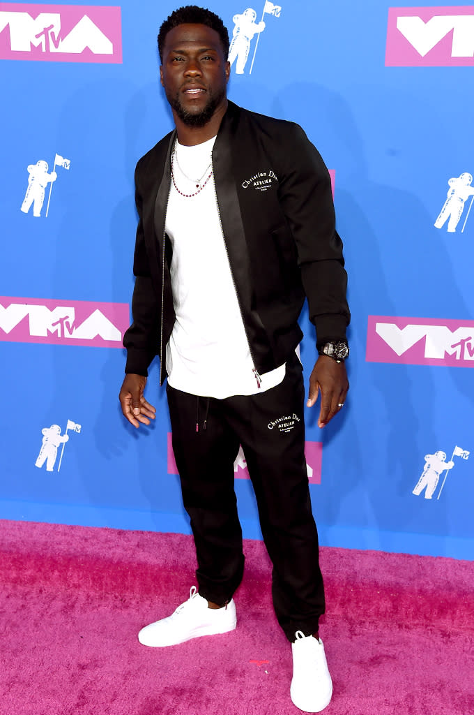
[[[0,59],[121,63],[121,9],[0,3]]]

